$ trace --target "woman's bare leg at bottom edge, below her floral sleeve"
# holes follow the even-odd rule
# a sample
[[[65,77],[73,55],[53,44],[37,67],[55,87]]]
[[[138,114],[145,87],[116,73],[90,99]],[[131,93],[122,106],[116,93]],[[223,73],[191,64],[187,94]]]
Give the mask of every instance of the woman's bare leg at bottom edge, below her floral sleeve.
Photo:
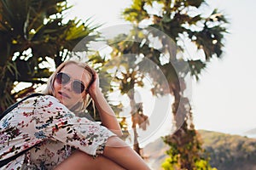
[[[69,156],[67,160],[62,161],[55,170],[85,170],[85,169],[94,169],[94,170],[124,170],[123,167],[120,167],[115,162],[109,160],[105,156],[98,156],[94,159],[92,156],[85,154],[83,151],[75,151],[72,156]]]

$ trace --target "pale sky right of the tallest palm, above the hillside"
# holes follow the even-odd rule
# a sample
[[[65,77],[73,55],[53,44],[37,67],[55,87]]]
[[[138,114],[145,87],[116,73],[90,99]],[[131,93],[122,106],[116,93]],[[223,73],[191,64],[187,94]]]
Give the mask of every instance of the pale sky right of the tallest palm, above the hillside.
[[[223,59],[214,60],[194,86],[195,125],[225,133],[255,128],[256,67],[253,0],[211,0],[230,19]]]

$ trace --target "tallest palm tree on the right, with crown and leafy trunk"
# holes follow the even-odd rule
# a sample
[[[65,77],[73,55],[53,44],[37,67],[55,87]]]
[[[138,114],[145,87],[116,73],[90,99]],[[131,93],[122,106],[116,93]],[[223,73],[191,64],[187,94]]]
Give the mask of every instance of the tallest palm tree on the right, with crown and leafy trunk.
[[[162,94],[169,93],[174,97],[172,113],[177,128],[175,133],[164,138],[172,146],[168,152],[172,159],[167,162],[168,168],[174,166],[177,169],[195,169],[198,162],[204,161],[200,156],[203,150],[193,125],[189,99],[184,95],[189,86],[185,79],[193,76],[198,80],[211,59],[221,57],[225,26],[228,23],[217,9],[203,17],[201,7],[204,4],[204,0],[134,0],[131,7],[125,8],[123,13],[125,20],[135,25],[134,29],[130,35],[120,36],[135,37],[136,41],[119,42],[114,46],[115,57],[121,54],[142,54],[151,59],[169,82],[169,90],[159,90]],[[116,37],[116,41],[119,37]],[[152,45],[152,39],[158,40],[160,48]],[[193,54],[189,53],[188,44],[196,48]],[[164,61],[162,54],[168,56]],[[183,63],[187,63],[189,67]],[[179,65],[178,71],[174,65]],[[126,78],[132,82],[132,77]],[[154,80],[157,82],[157,78]]]

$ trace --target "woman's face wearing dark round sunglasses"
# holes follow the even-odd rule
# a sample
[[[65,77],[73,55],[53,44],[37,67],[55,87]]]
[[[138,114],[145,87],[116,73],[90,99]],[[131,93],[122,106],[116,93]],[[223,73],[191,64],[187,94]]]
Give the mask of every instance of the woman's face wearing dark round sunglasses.
[[[85,98],[85,89],[90,79],[89,72],[84,70],[84,68],[73,63],[65,65],[59,72],[59,75],[55,77],[55,98],[59,99],[68,109],[71,109]]]

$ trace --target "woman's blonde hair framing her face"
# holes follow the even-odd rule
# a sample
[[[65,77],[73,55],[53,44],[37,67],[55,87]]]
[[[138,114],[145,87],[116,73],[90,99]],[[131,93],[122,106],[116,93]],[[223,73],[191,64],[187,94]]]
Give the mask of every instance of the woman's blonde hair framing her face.
[[[44,89],[44,91],[42,92],[43,94],[48,94],[48,95],[53,95],[54,94],[54,87],[53,84],[55,82],[55,76],[57,73],[59,73],[66,65],[70,65],[70,64],[75,64],[78,65],[81,68],[84,68],[85,71],[87,71],[90,75],[90,83],[89,86],[87,88],[90,88],[90,84],[91,82],[93,82],[93,77],[96,73],[96,71],[94,71],[92,68],[90,68],[89,65],[87,65],[86,63],[83,62],[79,62],[76,60],[67,60],[64,61],[63,63],[61,63],[61,65],[59,65],[55,72],[49,77],[48,82],[47,82],[47,86]],[[88,90],[88,89],[86,89]],[[82,102],[78,102],[76,105],[74,105],[70,110],[76,113],[85,111],[85,109],[87,108],[87,106],[90,104],[91,98],[89,94],[86,94],[84,96],[84,99]]]

